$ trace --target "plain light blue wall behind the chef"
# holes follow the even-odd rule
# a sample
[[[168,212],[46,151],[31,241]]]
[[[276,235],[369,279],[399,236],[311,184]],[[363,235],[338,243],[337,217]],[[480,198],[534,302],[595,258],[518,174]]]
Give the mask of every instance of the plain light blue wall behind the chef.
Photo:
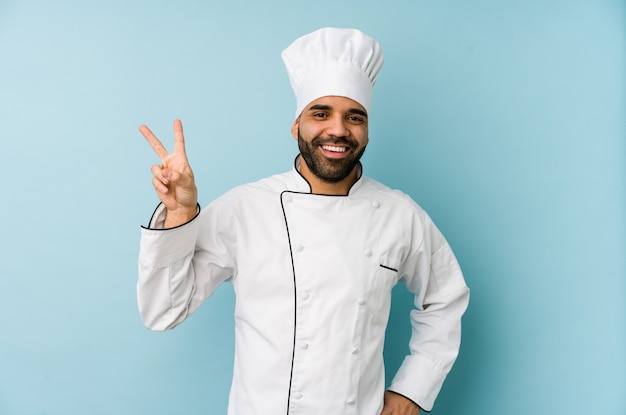
[[[230,287],[152,333],[137,132],[185,123],[208,203],[291,167],[280,52],[377,37],[366,173],[413,196],[472,288],[433,414],[626,413],[626,6],[618,0],[0,1],[0,414],[223,414]],[[386,358],[406,352],[399,288]]]

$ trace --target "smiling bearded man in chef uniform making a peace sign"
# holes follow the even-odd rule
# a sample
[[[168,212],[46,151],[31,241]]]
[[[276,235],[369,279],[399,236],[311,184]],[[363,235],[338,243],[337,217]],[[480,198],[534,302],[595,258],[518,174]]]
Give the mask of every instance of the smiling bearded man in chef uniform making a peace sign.
[[[231,415],[431,410],[458,353],[469,291],[454,254],[407,195],[362,175],[378,43],[320,29],[283,60],[296,95],[294,169],[239,186],[200,212],[183,129],[161,164],[161,205],[142,229],[144,324],[173,328],[224,281],[236,293]],[[391,290],[415,293],[407,356],[385,391]]]

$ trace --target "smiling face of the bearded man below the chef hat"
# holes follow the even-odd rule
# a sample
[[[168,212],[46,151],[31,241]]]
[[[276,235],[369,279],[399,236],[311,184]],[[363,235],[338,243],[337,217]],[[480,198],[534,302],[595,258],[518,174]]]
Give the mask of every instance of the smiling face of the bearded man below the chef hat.
[[[327,96],[307,105],[291,133],[309,170],[327,183],[352,173],[368,143],[367,112],[345,97]]]

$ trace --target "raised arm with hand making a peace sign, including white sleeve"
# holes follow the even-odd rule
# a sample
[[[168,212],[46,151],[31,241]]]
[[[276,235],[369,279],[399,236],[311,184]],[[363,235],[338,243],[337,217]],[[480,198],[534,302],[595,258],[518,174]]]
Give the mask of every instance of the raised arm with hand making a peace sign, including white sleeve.
[[[207,264],[215,263],[207,259],[209,250],[225,256],[216,249],[220,246],[217,239],[210,246],[198,245],[202,221],[196,218],[197,190],[185,154],[182,123],[174,122],[171,154],[148,127],[141,126],[140,131],[161,158],[160,165],[152,166],[152,184],[162,203],[153,215],[151,229],[142,229],[137,302],[144,325],[161,331],[185,320],[231,270],[219,266],[208,269]]]

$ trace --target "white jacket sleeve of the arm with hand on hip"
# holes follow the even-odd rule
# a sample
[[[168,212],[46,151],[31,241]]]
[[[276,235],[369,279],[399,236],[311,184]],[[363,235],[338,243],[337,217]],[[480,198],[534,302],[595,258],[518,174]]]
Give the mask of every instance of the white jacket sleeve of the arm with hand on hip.
[[[429,218],[422,229],[419,248],[403,269],[407,287],[415,294],[410,354],[389,390],[430,411],[458,356],[469,289],[452,249]]]

